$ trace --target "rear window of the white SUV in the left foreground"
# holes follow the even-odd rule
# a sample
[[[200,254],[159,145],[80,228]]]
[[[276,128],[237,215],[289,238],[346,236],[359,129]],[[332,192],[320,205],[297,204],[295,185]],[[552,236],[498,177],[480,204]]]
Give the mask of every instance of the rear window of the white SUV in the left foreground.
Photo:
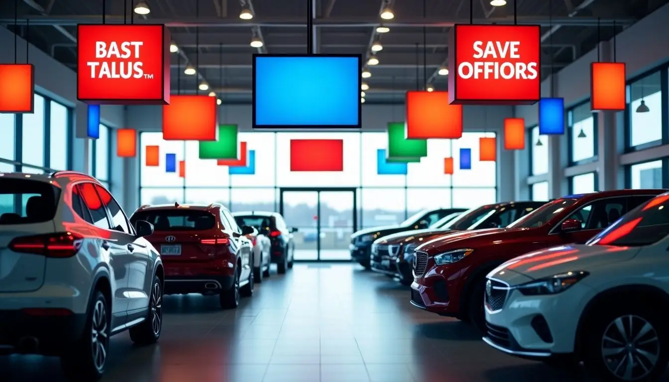
[[[0,178],[0,225],[54,219],[60,189],[47,182]]]

